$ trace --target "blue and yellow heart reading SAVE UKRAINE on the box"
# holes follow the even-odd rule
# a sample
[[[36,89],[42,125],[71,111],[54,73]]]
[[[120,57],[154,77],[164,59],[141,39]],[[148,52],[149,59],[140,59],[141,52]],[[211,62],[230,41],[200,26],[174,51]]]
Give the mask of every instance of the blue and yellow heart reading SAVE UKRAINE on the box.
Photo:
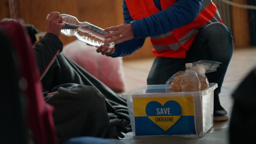
[[[181,107],[177,101],[167,101],[164,105],[151,101],[145,110],[148,118],[165,131],[172,127],[181,116]]]

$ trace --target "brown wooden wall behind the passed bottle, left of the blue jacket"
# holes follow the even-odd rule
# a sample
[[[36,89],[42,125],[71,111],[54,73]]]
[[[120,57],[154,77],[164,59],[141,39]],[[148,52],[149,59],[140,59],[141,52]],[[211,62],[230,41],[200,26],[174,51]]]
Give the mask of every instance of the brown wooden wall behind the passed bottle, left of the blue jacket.
[[[41,31],[45,31],[45,19],[50,12],[70,14],[79,21],[87,21],[101,28],[122,24],[117,23],[113,6],[117,0],[17,0],[20,17],[26,23],[33,24]],[[120,0],[119,0],[120,1]],[[122,12],[122,3],[120,5]],[[63,44],[76,40],[76,37],[61,35]]]

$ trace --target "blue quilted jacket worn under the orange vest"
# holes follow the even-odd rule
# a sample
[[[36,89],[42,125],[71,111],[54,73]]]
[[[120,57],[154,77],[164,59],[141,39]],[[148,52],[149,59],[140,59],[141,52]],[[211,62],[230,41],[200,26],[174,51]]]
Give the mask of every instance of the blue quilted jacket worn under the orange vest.
[[[192,22],[199,14],[203,0],[177,0],[169,9],[162,11],[160,0],[154,0],[157,14],[133,20],[123,0],[124,23],[131,23],[135,38],[115,45],[116,51],[111,57],[131,55],[143,46],[146,37],[154,37]]]

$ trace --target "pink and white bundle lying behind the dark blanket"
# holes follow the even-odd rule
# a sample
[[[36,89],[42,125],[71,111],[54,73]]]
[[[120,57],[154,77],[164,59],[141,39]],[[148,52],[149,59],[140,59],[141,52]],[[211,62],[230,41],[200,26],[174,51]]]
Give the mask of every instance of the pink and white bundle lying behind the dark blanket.
[[[97,53],[95,47],[74,40],[63,48],[63,54],[87,72],[102,81],[114,92],[125,90],[125,73],[122,57],[111,58]]]

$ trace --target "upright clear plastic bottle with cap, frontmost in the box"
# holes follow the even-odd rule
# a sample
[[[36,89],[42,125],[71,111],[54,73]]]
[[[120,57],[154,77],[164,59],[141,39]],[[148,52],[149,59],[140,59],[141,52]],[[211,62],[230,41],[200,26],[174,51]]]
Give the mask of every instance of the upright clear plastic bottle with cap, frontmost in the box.
[[[183,92],[200,91],[200,81],[197,73],[192,69],[192,63],[186,63],[186,70],[180,85]]]

